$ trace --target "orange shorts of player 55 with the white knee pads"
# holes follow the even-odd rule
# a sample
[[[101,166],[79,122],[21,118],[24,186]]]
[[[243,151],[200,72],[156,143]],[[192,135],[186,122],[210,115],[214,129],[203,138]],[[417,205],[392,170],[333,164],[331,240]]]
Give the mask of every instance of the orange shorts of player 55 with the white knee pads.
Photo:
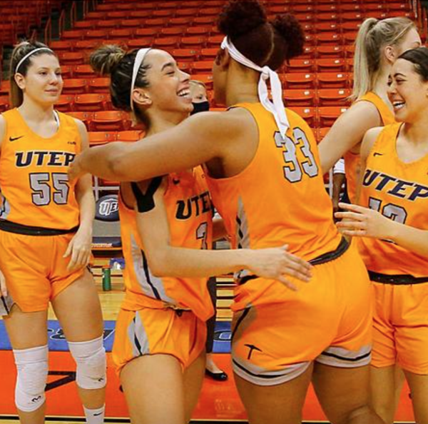
[[[26,236],[0,231],[0,270],[21,311],[46,311],[49,301],[83,276],[85,268],[68,271],[63,258],[74,234]]]

